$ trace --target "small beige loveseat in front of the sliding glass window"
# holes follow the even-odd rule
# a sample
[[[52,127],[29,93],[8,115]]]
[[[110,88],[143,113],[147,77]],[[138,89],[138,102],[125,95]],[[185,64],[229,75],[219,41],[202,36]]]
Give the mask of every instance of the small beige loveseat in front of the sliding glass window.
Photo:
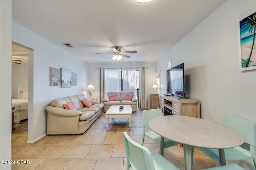
[[[132,100],[123,100],[124,99],[124,95],[128,93],[128,94],[132,94]],[[110,101],[109,96],[113,95],[113,94],[118,94],[118,101]],[[132,112],[136,111],[137,107],[138,107],[138,97],[136,95],[134,95],[133,91],[122,91],[122,92],[108,92],[107,93],[108,96],[105,96],[104,99],[102,100],[102,103],[104,104],[104,111],[108,111],[109,107],[112,105],[131,105],[132,106]]]

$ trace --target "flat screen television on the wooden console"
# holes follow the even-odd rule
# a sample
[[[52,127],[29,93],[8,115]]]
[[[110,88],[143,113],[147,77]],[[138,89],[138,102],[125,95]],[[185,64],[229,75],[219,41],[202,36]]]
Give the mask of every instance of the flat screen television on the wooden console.
[[[167,94],[185,97],[184,63],[167,70]]]

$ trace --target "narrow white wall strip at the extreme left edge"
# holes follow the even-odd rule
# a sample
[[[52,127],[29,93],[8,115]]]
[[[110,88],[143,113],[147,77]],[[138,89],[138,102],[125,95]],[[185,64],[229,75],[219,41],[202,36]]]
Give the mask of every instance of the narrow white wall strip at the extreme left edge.
[[[12,1],[0,0],[0,160],[11,160]],[[0,169],[11,169],[0,164]]]

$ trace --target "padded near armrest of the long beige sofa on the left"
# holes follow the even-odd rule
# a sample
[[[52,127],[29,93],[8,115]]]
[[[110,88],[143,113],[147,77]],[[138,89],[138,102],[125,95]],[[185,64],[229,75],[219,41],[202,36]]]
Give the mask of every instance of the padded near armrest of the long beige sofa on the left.
[[[54,115],[59,115],[59,116],[78,116],[82,114],[82,112],[79,110],[68,110],[68,109],[63,109],[60,107],[53,107],[53,106],[46,107],[46,110],[49,113],[52,113]]]

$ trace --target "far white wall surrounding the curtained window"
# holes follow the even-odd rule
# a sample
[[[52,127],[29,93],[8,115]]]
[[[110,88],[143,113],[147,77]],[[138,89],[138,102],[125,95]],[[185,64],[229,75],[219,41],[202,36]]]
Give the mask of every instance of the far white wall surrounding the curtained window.
[[[147,81],[147,107],[150,107],[150,93],[153,93],[152,86],[156,84],[156,72],[155,72],[155,64],[154,62],[116,62],[116,63],[90,63],[89,64],[89,80],[88,84],[92,84],[96,90],[92,91],[92,98],[100,98],[99,89],[99,68],[139,68],[139,67],[148,67],[146,69],[146,81]],[[98,68],[98,69],[96,69]],[[97,86],[98,85],[98,86]],[[97,87],[96,87],[97,86]],[[88,90],[86,90],[88,91]]]

